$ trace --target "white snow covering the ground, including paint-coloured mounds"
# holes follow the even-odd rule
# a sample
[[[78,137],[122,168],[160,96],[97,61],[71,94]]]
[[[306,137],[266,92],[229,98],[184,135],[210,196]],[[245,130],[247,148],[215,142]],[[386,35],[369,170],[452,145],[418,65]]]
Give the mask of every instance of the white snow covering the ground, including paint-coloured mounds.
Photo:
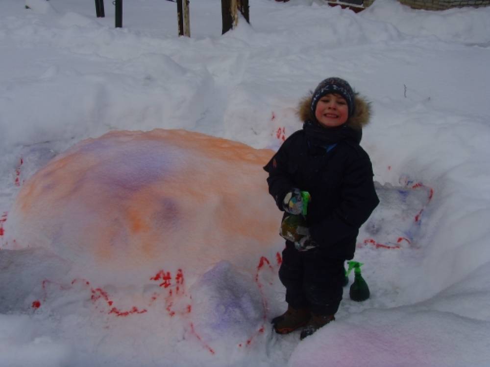
[[[190,39],[175,8],[124,1],[115,29],[108,1],[0,4],[0,366],[490,365],[490,8],[250,0],[221,36],[199,0]],[[355,257],[371,297],[346,288],[300,343],[269,324],[283,243],[261,165],[328,76],[372,102],[381,204]],[[168,197],[182,216],[142,256],[131,213]]]

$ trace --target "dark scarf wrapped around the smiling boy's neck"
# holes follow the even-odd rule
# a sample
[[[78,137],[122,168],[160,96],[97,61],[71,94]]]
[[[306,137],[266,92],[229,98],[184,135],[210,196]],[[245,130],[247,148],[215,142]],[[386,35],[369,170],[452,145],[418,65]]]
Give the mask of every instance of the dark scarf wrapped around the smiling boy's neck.
[[[359,144],[363,136],[362,130],[353,129],[346,124],[325,128],[318,122],[306,121],[303,130],[310,144],[321,147],[337,144],[343,140],[352,140]]]

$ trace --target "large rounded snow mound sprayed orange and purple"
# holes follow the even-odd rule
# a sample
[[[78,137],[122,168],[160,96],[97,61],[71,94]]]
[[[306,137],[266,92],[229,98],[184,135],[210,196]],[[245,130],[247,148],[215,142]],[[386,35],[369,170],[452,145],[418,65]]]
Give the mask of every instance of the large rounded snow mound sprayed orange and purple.
[[[253,273],[280,250],[262,169],[272,154],[182,130],[84,140],[24,184],[6,248],[48,249],[70,275],[114,285],[184,264],[199,275],[221,260]]]

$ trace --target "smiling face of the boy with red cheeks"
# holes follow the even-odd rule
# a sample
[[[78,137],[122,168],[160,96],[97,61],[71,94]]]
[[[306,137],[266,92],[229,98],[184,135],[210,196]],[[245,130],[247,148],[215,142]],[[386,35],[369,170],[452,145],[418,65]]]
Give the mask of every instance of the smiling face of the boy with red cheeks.
[[[324,127],[340,126],[349,117],[347,102],[340,94],[326,94],[317,103],[315,117]]]

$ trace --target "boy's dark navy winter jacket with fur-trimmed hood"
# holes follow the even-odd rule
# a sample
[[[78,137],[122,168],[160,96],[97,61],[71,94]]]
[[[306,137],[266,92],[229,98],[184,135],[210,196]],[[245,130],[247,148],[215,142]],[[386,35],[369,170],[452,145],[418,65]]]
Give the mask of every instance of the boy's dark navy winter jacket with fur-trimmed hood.
[[[269,192],[280,210],[291,189],[311,194],[307,224],[313,240],[331,257],[352,259],[359,228],[379,204],[368,154],[359,145],[369,121],[369,104],[356,95],[355,111],[340,127],[325,128],[300,103],[303,129],[279,148],[264,169]]]

